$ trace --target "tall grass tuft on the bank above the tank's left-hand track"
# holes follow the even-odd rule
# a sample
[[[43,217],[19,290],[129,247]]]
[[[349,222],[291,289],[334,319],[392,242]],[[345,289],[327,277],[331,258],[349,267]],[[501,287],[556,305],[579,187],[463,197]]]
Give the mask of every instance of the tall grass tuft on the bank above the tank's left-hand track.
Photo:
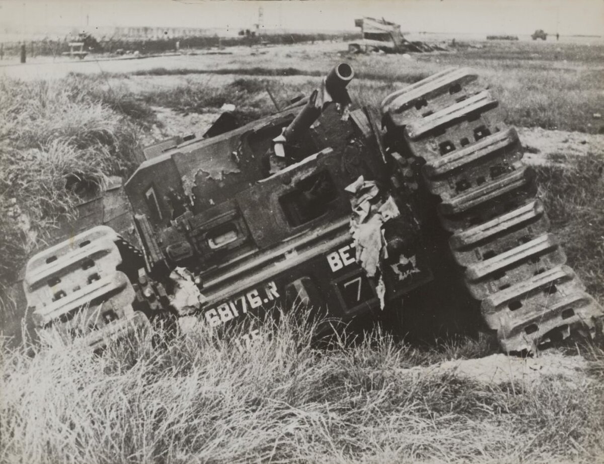
[[[77,76],[0,80],[0,291],[62,214],[132,171],[141,124],[105,97]]]

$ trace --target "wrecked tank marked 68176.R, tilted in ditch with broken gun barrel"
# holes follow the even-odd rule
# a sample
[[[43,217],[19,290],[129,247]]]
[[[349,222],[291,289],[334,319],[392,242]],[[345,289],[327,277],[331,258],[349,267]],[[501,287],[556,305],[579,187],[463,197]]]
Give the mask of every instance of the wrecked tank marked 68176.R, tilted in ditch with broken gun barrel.
[[[466,295],[507,352],[593,337],[602,308],[565,265],[516,130],[477,74],[446,69],[381,111],[353,108],[353,76],[341,63],[276,114],[149,147],[125,186],[137,246],[99,226],[34,256],[31,323],[98,347],[170,313],[248,321],[251,341],[249,321],[276,308],[422,319],[414,305],[440,294],[445,313]]]

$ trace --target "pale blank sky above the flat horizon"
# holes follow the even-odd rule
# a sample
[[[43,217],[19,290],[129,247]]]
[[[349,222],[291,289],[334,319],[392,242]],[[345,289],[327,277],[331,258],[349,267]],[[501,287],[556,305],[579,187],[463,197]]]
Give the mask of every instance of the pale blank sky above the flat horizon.
[[[0,0],[0,33],[51,27],[153,26],[355,30],[384,17],[403,31],[604,35],[604,0]],[[3,29],[3,30],[2,30]]]

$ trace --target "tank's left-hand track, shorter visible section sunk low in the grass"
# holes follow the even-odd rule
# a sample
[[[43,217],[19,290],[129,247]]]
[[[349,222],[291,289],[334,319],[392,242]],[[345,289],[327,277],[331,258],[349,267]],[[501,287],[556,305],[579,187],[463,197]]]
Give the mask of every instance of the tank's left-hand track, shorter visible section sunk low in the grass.
[[[140,251],[100,225],[33,256],[25,269],[28,329],[100,349],[149,326],[165,291],[138,275]],[[50,330],[51,327],[54,330]]]

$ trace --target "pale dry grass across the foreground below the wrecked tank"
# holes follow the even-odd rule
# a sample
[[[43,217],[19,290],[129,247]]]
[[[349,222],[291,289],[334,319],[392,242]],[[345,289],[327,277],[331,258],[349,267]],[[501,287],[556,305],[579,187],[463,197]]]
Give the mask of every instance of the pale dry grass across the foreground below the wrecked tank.
[[[374,332],[312,343],[291,319],[240,352],[199,331],[101,356],[2,351],[0,462],[596,462],[602,350],[592,381],[480,384],[405,370],[451,359]],[[266,335],[266,334],[265,334]],[[161,336],[161,335],[160,335]],[[156,335],[157,337],[157,335]],[[597,377],[599,376],[599,378]]]

